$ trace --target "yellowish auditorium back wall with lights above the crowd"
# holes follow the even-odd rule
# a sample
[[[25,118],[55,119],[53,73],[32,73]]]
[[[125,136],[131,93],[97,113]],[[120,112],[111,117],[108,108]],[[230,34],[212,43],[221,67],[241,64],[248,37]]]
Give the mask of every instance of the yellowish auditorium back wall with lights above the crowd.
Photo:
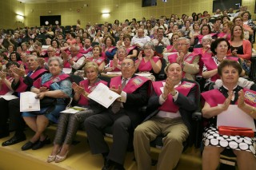
[[[199,13],[207,10],[212,14],[213,3],[212,0],[169,0],[162,2],[158,0],[158,6],[142,7],[142,0],[84,0],[78,2],[48,2],[48,3],[19,3],[15,0],[1,1],[0,16],[1,27],[15,28],[19,25],[24,26],[39,26],[40,16],[46,15],[61,15],[62,26],[76,25],[76,21],[81,21],[82,27],[86,26],[87,22],[103,23],[114,22],[118,19],[123,22],[126,18],[137,18],[141,20],[142,17],[146,19],[154,16],[159,18],[161,15],[166,15],[170,18],[170,14],[191,15],[193,12]],[[248,6],[248,10],[254,14],[254,1],[242,0],[243,6]],[[6,7],[4,7],[6,6]],[[21,10],[24,13],[24,20],[21,23],[17,20],[16,11]],[[104,16],[109,12],[109,16]],[[5,15],[6,14],[6,15]],[[3,25],[2,25],[3,24]]]

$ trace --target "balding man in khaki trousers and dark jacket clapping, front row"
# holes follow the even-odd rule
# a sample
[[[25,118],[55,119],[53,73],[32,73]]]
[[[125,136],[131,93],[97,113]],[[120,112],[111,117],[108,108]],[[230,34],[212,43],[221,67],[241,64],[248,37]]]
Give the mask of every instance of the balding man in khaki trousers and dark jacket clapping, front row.
[[[150,116],[134,130],[134,154],[138,170],[150,169],[150,141],[164,135],[158,158],[158,170],[173,169],[178,164],[183,145],[190,133],[191,113],[197,109],[197,87],[182,81],[182,67],[172,63],[166,67],[166,81],[153,82],[156,95],[150,97]]]

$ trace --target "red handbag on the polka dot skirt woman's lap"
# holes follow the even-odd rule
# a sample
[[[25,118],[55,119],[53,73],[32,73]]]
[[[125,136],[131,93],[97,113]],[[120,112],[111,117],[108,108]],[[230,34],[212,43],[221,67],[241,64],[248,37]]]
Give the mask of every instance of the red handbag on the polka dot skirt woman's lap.
[[[248,136],[254,137],[254,131],[252,128],[238,128],[231,126],[218,126],[218,133],[228,136]]]

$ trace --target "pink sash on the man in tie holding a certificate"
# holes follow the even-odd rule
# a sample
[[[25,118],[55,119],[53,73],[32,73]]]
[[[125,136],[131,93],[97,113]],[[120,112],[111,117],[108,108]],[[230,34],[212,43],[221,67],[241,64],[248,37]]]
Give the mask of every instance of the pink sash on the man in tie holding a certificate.
[[[136,89],[140,88],[146,81],[150,81],[150,79],[146,77],[136,76],[130,79],[128,83],[126,84],[125,88],[122,89],[122,91],[126,93],[133,93]],[[113,77],[110,81],[110,88],[112,86],[115,86],[117,89],[118,86],[122,86],[122,76]]]

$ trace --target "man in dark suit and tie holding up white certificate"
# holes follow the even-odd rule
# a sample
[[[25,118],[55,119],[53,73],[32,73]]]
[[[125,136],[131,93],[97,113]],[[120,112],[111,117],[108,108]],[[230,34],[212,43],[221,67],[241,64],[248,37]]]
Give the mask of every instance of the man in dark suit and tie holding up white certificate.
[[[145,77],[134,76],[134,61],[126,58],[121,65],[122,76],[111,78],[110,89],[121,95],[107,110],[89,117],[85,121],[85,128],[93,154],[101,153],[104,157],[103,170],[124,169],[123,163],[130,132],[141,123],[142,114],[139,107],[146,105],[150,80]],[[113,125],[113,140],[108,147],[103,136],[103,129]]]

